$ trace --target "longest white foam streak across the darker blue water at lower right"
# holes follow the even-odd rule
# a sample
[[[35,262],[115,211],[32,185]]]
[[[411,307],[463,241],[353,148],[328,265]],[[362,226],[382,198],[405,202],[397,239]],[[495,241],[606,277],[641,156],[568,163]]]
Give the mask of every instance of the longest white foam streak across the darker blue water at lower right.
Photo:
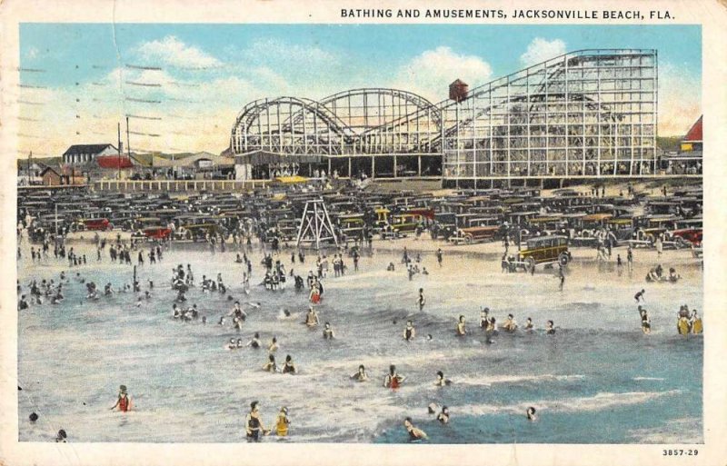
[[[670,390],[667,392],[601,392],[589,397],[570,398],[564,400],[541,400],[534,402],[522,402],[506,406],[498,406],[493,404],[471,404],[459,407],[452,407],[450,411],[469,413],[475,415],[487,415],[494,413],[513,413],[521,414],[529,406],[533,406],[539,411],[555,411],[555,412],[582,412],[582,411],[602,411],[610,408],[629,406],[633,404],[642,404],[651,402],[665,396],[672,396],[681,393],[680,390]]]

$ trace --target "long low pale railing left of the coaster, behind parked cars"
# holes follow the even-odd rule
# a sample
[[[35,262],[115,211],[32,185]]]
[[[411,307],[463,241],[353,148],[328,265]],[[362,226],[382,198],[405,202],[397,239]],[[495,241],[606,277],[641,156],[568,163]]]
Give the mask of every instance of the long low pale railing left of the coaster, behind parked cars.
[[[264,188],[269,183],[270,180],[101,180],[94,183],[94,190],[116,193],[236,192]]]

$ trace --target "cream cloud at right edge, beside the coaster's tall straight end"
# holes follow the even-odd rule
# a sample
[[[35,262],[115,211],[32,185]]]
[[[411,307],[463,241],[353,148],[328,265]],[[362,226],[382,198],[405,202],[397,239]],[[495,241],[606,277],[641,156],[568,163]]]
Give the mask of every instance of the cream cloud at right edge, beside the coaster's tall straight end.
[[[659,135],[683,136],[701,114],[700,75],[669,62],[659,64]]]

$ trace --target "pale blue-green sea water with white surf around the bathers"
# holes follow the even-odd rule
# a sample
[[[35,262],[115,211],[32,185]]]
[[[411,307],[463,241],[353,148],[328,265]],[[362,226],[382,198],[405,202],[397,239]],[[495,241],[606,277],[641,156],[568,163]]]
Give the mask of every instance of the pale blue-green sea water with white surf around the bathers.
[[[70,276],[81,273],[101,288],[131,283],[131,267],[106,257],[96,263],[92,249],[86,253],[94,260]],[[89,302],[85,285],[72,279],[65,302],[19,312],[20,440],[53,441],[65,429],[69,441],[244,441],[244,416],[257,400],[266,427],[281,406],[288,407],[286,441],[405,442],[406,416],[432,443],[702,441],[702,336],[680,336],[675,329],[682,303],[699,309],[709,325],[696,263],[682,261],[682,281],[662,284],[643,281],[652,263],[637,263],[628,273],[576,260],[560,292],[552,271],[501,273],[498,260],[467,256],[447,255],[440,268],[433,254],[423,254],[430,274],[410,281],[398,254],[373,253],[361,259],[359,272],[347,259],[349,273],[334,278],[332,270],[324,280],[317,309],[337,337],[324,341],[322,328],[301,323],[307,292],[290,285],[271,292],[254,284],[244,294],[244,268],[234,263],[234,254],[213,256],[175,244],[163,262],[139,268],[143,290],[148,279],[154,281],[153,298],[140,307],[133,293]],[[671,254],[681,254],[681,261],[688,253]],[[259,283],[261,252],[251,255],[252,283]],[[34,277],[57,282],[67,269],[54,259],[31,265],[28,256],[18,267],[24,286]],[[290,253],[280,258],[290,270]],[[393,273],[385,271],[389,262],[396,263]],[[197,282],[203,274],[222,273],[228,294],[261,303],[245,307],[249,317],[242,332],[230,322],[217,325],[232,308],[227,296],[199,287],[187,293],[188,304],[196,303],[207,323],[172,318],[175,292],[169,282],[177,263],[190,263]],[[314,256],[293,267],[307,274]],[[423,312],[416,303],[420,287],[427,298]],[[651,335],[642,334],[633,301],[641,288]],[[521,325],[532,317],[537,330],[500,332],[487,342],[477,327],[481,306],[490,307],[498,322],[510,312]],[[283,309],[293,317],[284,318]],[[468,322],[464,338],[454,336],[460,314]],[[417,328],[413,342],[402,338],[406,319]],[[549,319],[554,335],[543,332]],[[300,373],[262,372],[264,349],[224,350],[230,338],[247,342],[254,332],[265,347],[276,336],[278,362],[291,354]],[[349,380],[359,364],[366,366],[369,382]],[[382,386],[389,364],[407,377],[396,391]],[[452,385],[434,387],[440,370]],[[120,384],[128,387],[134,411],[109,410]],[[449,407],[448,425],[428,414],[431,402]],[[537,409],[537,421],[526,420],[528,406]],[[32,411],[40,415],[35,423],[28,421]]]

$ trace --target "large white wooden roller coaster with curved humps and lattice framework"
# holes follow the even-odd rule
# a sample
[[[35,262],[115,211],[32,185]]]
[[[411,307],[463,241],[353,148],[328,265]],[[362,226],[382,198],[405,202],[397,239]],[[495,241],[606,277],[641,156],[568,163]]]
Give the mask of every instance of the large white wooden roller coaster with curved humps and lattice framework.
[[[580,50],[433,104],[397,89],[244,106],[230,139],[238,179],[314,173],[422,177],[444,186],[664,174],[657,52]]]

